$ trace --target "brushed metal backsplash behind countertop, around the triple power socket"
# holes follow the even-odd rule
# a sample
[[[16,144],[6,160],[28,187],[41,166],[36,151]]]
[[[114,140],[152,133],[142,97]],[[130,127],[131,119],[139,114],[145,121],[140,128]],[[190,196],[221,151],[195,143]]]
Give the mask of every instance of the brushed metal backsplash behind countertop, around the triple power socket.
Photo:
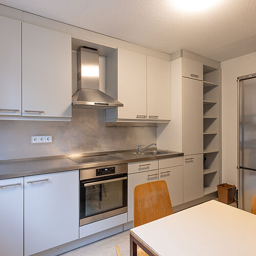
[[[31,144],[31,136],[52,143]],[[156,143],[156,127],[106,127],[104,110],[73,110],[71,122],[0,121],[0,160],[127,150]]]

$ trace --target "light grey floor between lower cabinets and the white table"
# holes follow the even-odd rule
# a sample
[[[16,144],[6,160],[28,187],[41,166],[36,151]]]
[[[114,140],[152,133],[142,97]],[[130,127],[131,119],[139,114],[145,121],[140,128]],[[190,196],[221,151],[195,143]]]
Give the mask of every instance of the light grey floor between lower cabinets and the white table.
[[[218,198],[215,200],[218,201]],[[230,204],[230,206],[237,207],[236,202]],[[115,236],[105,238],[95,243],[83,246],[76,250],[62,254],[62,256],[115,256],[116,245],[119,246],[122,256],[129,256],[130,244],[129,244],[129,230],[116,234]]]

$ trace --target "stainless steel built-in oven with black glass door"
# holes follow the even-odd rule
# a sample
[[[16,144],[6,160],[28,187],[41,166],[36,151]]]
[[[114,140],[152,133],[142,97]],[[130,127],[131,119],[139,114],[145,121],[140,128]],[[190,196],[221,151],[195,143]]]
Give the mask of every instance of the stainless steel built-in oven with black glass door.
[[[80,169],[80,226],[127,212],[127,164]]]

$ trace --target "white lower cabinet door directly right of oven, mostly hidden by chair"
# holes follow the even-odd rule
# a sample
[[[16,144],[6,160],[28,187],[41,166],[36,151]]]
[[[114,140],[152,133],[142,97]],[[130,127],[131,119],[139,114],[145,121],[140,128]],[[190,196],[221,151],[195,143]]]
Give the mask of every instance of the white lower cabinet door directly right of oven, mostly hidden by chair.
[[[128,222],[134,217],[134,187],[151,181],[158,180],[158,170],[128,175]]]

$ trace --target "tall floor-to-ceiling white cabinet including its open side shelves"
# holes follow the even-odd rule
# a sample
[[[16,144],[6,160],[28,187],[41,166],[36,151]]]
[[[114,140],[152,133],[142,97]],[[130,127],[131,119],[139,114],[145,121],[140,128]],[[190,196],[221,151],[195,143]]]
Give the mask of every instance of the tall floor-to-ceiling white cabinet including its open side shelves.
[[[158,124],[157,144],[184,153],[186,203],[214,193],[220,182],[220,63],[181,51],[171,61],[171,75],[172,122]]]

